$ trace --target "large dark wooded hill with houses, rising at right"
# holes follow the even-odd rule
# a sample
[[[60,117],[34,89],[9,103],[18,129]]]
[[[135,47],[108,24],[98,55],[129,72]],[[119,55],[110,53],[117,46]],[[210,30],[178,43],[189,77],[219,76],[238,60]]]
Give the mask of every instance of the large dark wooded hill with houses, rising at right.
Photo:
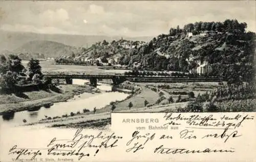
[[[253,73],[255,33],[245,32],[245,22],[227,19],[224,22],[195,22],[182,28],[170,28],[169,34],[161,34],[147,43],[128,44],[122,41],[98,42],[92,45],[84,57],[115,59],[116,64],[133,66],[141,63],[144,70],[193,70],[199,61],[208,61],[214,68],[213,76],[227,79],[227,71],[235,78],[248,78]],[[127,44],[126,43],[126,44]],[[104,59],[104,60],[106,60]]]

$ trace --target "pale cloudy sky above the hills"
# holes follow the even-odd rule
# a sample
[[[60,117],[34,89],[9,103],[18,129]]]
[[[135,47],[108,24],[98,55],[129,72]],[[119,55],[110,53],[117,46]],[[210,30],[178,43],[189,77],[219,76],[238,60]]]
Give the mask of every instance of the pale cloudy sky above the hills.
[[[157,36],[196,21],[237,19],[256,31],[256,1],[8,1],[0,31]]]

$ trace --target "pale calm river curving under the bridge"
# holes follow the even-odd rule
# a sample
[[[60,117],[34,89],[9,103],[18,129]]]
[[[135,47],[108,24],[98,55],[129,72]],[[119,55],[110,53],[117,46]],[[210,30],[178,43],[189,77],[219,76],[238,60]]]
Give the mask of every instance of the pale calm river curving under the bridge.
[[[88,80],[73,79],[73,84],[83,85],[89,82]],[[0,123],[10,126],[17,126],[24,124],[26,120],[27,123],[34,123],[41,119],[61,117],[62,115],[70,115],[71,112],[83,113],[83,109],[88,109],[92,111],[94,107],[96,109],[105,107],[112,101],[124,100],[129,94],[123,92],[111,91],[112,87],[108,84],[98,83],[97,88],[100,89],[101,93],[87,93],[84,92],[81,95],[75,96],[74,98],[68,100],[67,102],[54,103],[50,108],[40,107],[34,111],[19,111],[11,114],[11,119],[6,119],[4,115],[0,118]]]

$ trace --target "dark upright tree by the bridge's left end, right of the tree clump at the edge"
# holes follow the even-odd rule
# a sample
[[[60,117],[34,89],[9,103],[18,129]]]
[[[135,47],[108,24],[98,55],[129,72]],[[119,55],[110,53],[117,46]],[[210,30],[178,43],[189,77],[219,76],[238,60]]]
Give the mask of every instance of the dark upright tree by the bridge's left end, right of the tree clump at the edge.
[[[40,66],[39,60],[32,58],[28,62],[27,66],[28,66],[30,78],[32,78],[35,74],[38,74],[39,78],[41,79],[42,73],[41,73],[41,66]]]

